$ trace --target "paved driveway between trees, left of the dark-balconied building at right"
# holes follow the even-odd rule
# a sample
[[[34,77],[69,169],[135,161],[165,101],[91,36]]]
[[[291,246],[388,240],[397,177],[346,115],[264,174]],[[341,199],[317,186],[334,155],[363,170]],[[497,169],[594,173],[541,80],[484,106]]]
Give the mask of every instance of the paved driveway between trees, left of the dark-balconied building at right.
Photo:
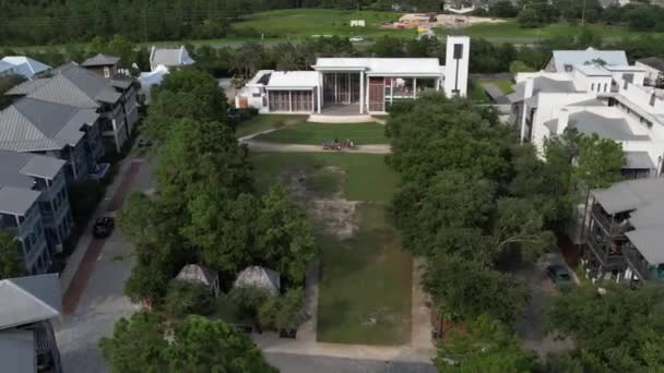
[[[517,278],[527,284],[531,296],[522,317],[517,321],[517,333],[521,337],[523,347],[534,350],[541,359],[546,358],[549,352],[573,347],[571,340],[556,340],[552,335],[545,334],[545,312],[558,291],[546,274],[546,266],[550,264],[567,266],[562,255],[547,253],[536,263],[529,264],[514,273]],[[569,267],[568,270],[573,276]]]

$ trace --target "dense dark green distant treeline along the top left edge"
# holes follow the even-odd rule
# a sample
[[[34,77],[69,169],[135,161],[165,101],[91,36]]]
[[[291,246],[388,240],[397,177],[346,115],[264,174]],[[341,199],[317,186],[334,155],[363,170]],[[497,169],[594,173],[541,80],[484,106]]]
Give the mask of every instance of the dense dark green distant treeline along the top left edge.
[[[293,8],[382,9],[388,0],[0,0],[0,46],[86,41],[122,35],[133,41],[241,37],[244,15]],[[440,0],[404,8],[438,10]]]

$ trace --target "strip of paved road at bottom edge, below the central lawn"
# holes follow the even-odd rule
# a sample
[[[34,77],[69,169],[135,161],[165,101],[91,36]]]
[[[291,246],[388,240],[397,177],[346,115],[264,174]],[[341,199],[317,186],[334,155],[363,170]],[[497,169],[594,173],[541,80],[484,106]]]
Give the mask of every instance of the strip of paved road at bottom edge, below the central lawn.
[[[436,373],[430,363],[265,353],[281,373]]]

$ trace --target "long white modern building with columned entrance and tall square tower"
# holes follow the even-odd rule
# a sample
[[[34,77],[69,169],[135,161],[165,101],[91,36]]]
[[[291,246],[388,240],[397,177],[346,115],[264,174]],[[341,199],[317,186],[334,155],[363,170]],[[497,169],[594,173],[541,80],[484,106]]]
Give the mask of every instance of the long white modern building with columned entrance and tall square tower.
[[[395,101],[442,89],[466,95],[470,38],[448,36],[446,64],[437,58],[319,58],[313,71],[261,70],[236,97],[237,107],[260,112],[382,113]]]

